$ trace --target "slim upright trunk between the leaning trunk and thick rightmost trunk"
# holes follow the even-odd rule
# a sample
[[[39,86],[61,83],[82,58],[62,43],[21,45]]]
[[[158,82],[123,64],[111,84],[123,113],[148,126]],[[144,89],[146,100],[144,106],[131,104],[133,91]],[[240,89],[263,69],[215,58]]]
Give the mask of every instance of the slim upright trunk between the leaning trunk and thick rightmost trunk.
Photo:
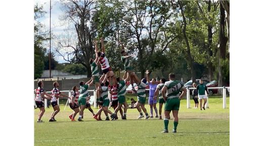
[[[208,1],[208,24],[207,24],[207,30],[208,30],[208,35],[207,35],[207,47],[206,47],[206,52],[207,52],[207,67],[208,67],[208,74],[209,74],[209,81],[211,81],[212,79],[212,62],[210,57],[213,55],[212,51],[211,51],[211,45],[212,45],[212,25],[211,25],[211,17],[210,17],[210,12],[211,12],[211,1]]]

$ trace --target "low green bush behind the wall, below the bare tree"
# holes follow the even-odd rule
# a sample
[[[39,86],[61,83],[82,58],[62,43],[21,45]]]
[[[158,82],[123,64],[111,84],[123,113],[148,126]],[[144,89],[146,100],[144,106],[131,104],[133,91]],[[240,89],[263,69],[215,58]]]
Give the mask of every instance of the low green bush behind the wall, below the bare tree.
[[[69,72],[73,75],[86,75],[87,71],[86,68],[81,64],[67,64],[62,69],[64,72]]]

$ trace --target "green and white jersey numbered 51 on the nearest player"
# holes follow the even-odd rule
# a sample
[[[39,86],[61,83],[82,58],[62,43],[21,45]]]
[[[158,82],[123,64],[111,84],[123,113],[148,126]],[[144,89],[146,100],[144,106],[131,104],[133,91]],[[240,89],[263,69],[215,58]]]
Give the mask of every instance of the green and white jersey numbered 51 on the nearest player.
[[[167,81],[164,86],[167,87],[166,96],[168,98],[179,97],[179,92],[185,88],[184,83],[181,81]]]

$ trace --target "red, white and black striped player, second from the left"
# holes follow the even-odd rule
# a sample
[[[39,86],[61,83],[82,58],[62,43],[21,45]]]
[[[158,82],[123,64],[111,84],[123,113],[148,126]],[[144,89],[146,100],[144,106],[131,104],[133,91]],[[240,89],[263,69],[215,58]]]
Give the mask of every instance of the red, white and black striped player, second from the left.
[[[57,113],[60,111],[59,105],[58,105],[58,98],[59,97],[67,97],[69,98],[67,95],[61,93],[58,89],[59,87],[59,83],[57,81],[53,82],[53,90],[52,90],[52,99],[51,99],[51,105],[54,109],[54,112],[51,114],[51,118],[50,118],[50,122],[54,122],[57,121],[55,119],[55,116],[57,115]]]

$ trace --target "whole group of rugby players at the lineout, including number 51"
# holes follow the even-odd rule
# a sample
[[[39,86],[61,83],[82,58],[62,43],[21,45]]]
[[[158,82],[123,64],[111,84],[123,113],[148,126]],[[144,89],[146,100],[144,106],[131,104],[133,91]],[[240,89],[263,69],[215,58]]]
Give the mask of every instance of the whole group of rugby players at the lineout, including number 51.
[[[126,119],[126,112],[127,112],[127,102],[125,99],[126,94],[126,83],[129,81],[132,90],[135,91],[138,95],[138,101],[135,104],[135,107],[138,109],[140,115],[138,119],[141,119],[144,117],[143,112],[145,113],[145,119],[150,118],[150,115],[147,113],[147,110],[145,108],[145,102],[146,102],[146,94],[145,94],[145,88],[146,88],[146,82],[148,81],[150,88],[154,85],[154,80],[152,82],[149,80],[149,71],[147,70],[147,80],[142,79],[140,80],[135,72],[133,72],[133,68],[130,66],[130,57],[133,55],[127,55],[127,53],[124,51],[124,46],[122,46],[121,51],[121,61],[124,63],[124,69],[125,73],[123,78],[115,77],[114,72],[112,71],[109,61],[107,57],[105,56],[105,46],[104,46],[104,39],[101,38],[101,45],[102,45],[102,51],[98,50],[98,44],[97,41],[94,41],[95,45],[95,52],[96,52],[96,58],[90,59],[91,64],[91,70],[92,70],[92,78],[90,81],[84,83],[80,82],[78,89],[77,86],[74,86],[72,88],[73,93],[71,97],[68,97],[67,95],[64,95],[60,93],[58,87],[58,82],[54,82],[54,89],[52,90],[52,95],[49,95],[44,92],[43,90],[43,82],[39,81],[37,83],[38,88],[36,89],[36,98],[35,103],[36,106],[40,109],[38,120],[37,122],[42,122],[41,117],[43,113],[45,112],[44,104],[42,102],[43,98],[51,99],[51,104],[53,106],[54,112],[51,115],[50,122],[56,121],[55,116],[60,111],[59,105],[57,103],[57,99],[59,97],[67,97],[69,98],[69,106],[74,111],[72,114],[69,115],[69,118],[71,121],[75,121],[75,116],[77,113],[79,113],[79,116],[77,118],[78,121],[83,121],[83,111],[85,108],[88,108],[94,115],[94,118],[96,120],[101,120],[101,113],[102,111],[106,115],[106,120],[110,120],[109,115],[111,117],[111,120],[118,119],[117,112],[121,113],[121,118]],[[102,69],[103,76],[99,76],[99,66]],[[185,96],[186,89],[184,87],[184,84],[181,81],[175,81],[175,76],[173,73],[169,74],[169,81],[165,82],[165,79],[160,80],[160,84],[155,86],[155,91],[151,93],[150,91],[150,97],[159,98],[159,116],[161,119],[161,108],[162,104],[164,105],[164,133],[168,132],[168,123],[170,119],[170,112],[172,111],[173,117],[174,117],[174,128],[173,132],[177,132],[177,125],[178,125],[178,111],[180,107],[180,100]],[[134,83],[138,85],[138,90],[135,90]],[[89,104],[90,95],[88,89],[91,86],[95,86],[96,89],[96,96],[97,96],[97,103],[100,107],[98,112],[95,114],[93,110],[91,109],[91,105]],[[79,91],[78,91],[79,90]],[[114,111],[111,112],[108,107],[110,105],[110,99],[108,96],[108,92],[111,94],[111,104],[114,108]],[[180,92],[182,94],[180,94]],[[156,105],[156,102],[152,102],[150,100],[153,100],[149,98],[149,104],[150,105]],[[122,106],[123,111],[122,111]],[[155,108],[155,112],[157,114],[157,109]],[[143,112],[142,112],[143,110]],[[152,117],[152,106],[151,106],[151,117]],[[158,117],[158,115],[156,115]]]

